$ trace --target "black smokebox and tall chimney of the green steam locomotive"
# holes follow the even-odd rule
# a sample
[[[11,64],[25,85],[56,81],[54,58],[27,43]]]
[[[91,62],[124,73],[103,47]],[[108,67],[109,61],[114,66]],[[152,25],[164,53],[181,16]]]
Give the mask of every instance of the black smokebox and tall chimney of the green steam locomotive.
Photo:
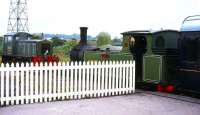
[[[96,46],[87,44],[87,27],[80,27],[80,42],[70,51],[71,61],[83,61],[85,51],[95,51]]]

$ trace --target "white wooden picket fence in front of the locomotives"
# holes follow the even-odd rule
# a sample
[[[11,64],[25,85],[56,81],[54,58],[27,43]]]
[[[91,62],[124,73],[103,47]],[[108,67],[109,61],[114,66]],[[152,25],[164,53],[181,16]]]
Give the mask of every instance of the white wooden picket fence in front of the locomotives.
[[[134,93],[135,62],[1,64],[0,105]]]

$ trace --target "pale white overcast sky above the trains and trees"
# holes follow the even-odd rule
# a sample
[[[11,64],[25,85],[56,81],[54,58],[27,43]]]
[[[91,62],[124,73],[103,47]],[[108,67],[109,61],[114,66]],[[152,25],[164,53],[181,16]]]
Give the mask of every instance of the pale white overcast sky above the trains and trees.
[[[30,33],[179,30],[185,17],[200,14],[200,0],[27,0]],[[0,0],[0,35],[7,32],[10,0]]]

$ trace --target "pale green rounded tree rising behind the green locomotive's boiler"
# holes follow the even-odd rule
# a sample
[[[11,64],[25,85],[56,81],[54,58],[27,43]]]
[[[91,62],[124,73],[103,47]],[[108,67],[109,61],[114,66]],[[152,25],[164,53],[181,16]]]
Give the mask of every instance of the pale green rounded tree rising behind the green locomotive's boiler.
[[[103,46],[111,43],[111,36],[107,32],[100,32],[97,35],[97,46]]]

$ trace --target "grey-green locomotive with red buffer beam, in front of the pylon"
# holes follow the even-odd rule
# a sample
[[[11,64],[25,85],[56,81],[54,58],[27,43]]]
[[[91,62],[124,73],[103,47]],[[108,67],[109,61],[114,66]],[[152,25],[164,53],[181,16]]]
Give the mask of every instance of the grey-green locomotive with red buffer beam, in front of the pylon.
[[[25,32],[4,35],[2,62],[57,62],[53,55],[52,43],[48,40],[33,40]]]

